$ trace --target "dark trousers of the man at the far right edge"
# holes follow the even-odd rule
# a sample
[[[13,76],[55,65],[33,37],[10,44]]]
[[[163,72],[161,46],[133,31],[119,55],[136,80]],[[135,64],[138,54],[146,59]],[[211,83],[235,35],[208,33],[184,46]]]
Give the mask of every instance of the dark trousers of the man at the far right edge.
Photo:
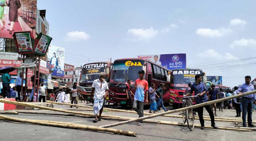
[[[252,124],[252,102],[253,100],[252,99],[247,99],[247,98],[244,98],[242,99],[242,103],[243,103],[243,115],[242,115],[242,118],[243,118],[243,125],[246,125],[246,114],[248,112],[248,117],[247,117],[247,120],[248,120],[248,125],[250,126]]]

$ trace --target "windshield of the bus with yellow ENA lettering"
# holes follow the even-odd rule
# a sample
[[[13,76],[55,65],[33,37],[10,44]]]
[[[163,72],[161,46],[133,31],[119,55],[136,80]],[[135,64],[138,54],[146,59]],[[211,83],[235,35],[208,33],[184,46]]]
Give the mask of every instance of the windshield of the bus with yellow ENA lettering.
[[[128,62],[128,63],[127,63]],[[139,78],[138,72],[142,70],[144,61],[115,61],[111,73],[110,84],[125,84],[127,80],[132,80],[132,84]]]

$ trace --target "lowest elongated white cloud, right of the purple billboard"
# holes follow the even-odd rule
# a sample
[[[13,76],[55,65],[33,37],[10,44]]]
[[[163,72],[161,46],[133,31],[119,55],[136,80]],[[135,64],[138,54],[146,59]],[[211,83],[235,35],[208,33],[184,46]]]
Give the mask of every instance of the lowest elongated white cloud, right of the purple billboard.
[[[230,53],[225,53],[224,55],[216,52],[214,49],[208,49],[203,51],[202,53],[198,53],[197,56],[200,57],[207,57],[207,58],[212,58],[216,60],[234,60],[237,59],[236,56],[231,55]]]

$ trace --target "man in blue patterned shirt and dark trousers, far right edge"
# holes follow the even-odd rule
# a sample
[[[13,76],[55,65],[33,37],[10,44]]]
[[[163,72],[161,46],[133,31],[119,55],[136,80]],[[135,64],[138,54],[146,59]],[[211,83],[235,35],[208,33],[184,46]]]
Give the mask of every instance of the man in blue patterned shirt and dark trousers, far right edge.
[[[254,91],[254,86],[250,83],[251,76],[245,76],[245,83],[240,86],[237,90],[238,94]],[[246,113],[248,112],[248,127],[256,127],[254,124],[252,124],[252,105],[253,100],[256,100],[255,93],[250,94],[248,96],[243,96],[242,98],[242,106],[243,106],[243,112],[242,112],[242,118],[243,118],[243,127],[246,126]],[[256,102],[255,102],[256,103]]]

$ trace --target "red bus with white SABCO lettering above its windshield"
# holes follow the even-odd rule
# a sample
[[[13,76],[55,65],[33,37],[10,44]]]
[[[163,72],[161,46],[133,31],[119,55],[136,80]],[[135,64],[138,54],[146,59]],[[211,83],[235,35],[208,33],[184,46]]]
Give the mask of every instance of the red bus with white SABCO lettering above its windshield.
[[[169,85],[169,104],[173,109],[182,105],[183,95],[189,83],[195,82],[195,75],[201,74],[203,83],[206,84],[206,75],[201,69],[174,69],[171,73],[171,83]],[[194,95],[194,93],[193,93]],[[195,101],[194,103],[195,104]]]

